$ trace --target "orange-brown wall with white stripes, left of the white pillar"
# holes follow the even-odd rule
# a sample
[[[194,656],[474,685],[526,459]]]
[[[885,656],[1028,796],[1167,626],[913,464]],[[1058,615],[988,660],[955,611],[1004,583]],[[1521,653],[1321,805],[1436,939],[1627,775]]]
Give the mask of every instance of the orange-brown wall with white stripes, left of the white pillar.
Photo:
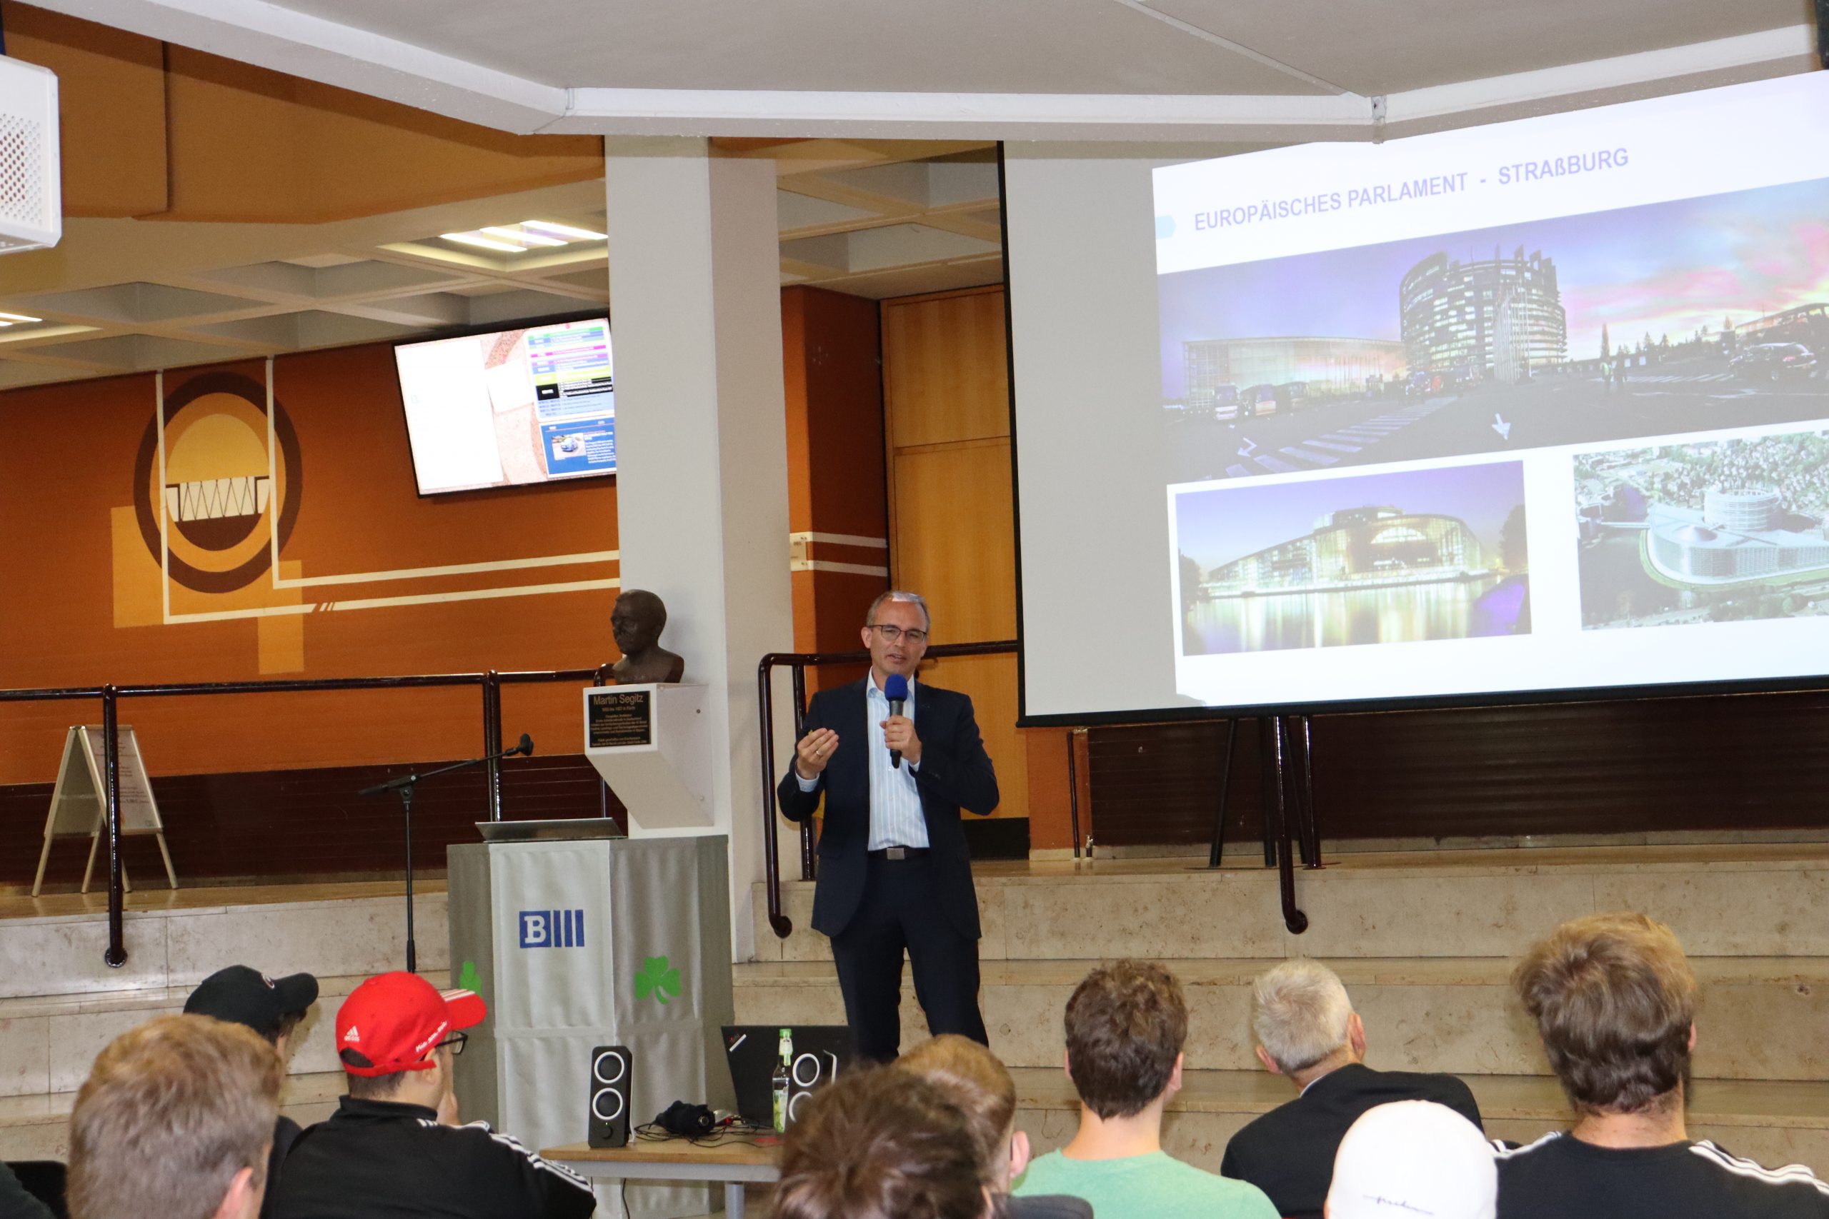
[[[183,369],[166,375],[166,400],[216,373],[263,384],[260,362]],[[490,596],[611,579],[615,563],[375,576],[302,590],[271,588],[271,572],[232,592],[165,581],[135,519],[135,501],[150,495],[135,462],[154,424],[154,384],[143,375],[0,395],[0,689],[562,669],[615,656],[613,590]],[[274,397],[296,431],[302,473],[283,495],[296,503],[280,546],[287,576],[397,574],[616,546],[611,481],[421,499],[386,345],[282,356]],[[168,426],[177,419],[168,411]],[[174,461],[183,453],[170,450]],[[181,554],[177,543],[172,550]],[[165,623],[166,590],[176,614],[315,609]],[[377,598],[421,603],[344,609]],[[84,704],[0,709],[0,784],[48,782],[64,727],[95,716]],[[139,729],[154,775],[468,757],[481,733],[476,691],[141,700],[124,704],[123,716]],[[582,747],[574,694],[560,689],[508,691],[505,731],[532,733],[543,753]]]

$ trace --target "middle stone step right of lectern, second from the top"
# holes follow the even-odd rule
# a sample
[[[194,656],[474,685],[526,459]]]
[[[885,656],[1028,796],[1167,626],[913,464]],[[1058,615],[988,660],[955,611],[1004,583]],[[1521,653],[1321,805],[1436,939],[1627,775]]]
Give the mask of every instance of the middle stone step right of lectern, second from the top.
[[[1097,961],[984,961],[984,1023],[1011,1067],[1054,1067],[1064,1053],[1066,998]],[[1547,1075],[1536,1033],[1500,958],[1328,959],[1366,1025],[1370,1060],[1388,1071]],[[1253,1071],[1251,983],[1262,959],[1165,961],[1187,992],[1187,1060]],[[1829,1076],[1829,958],[1692,958],[1701,981],[1695,1075],[1721,1080]],[[739,1023],[843,1023],[823,961],[735,967]],[[904,972],[904,1034],[927,1034]]]

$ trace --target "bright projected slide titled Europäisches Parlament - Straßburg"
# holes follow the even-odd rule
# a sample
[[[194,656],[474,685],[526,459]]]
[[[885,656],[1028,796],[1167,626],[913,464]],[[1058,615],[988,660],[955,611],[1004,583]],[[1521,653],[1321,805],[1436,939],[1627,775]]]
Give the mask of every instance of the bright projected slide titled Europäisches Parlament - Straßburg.
[[[1178,693],[1829,667],[1825,101],[1158,168]]]

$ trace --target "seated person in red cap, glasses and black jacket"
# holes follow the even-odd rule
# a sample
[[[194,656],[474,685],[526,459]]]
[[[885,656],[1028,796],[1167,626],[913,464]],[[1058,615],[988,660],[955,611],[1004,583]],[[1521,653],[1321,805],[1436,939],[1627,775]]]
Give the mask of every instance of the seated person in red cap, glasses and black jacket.
[[[349,1095],[285,1159],[276,1219],[585,1219],[583,1177],[487,1122],[459,1124],[452,1058],[487,1016],[470,991],[369,978],[337,1011]]]

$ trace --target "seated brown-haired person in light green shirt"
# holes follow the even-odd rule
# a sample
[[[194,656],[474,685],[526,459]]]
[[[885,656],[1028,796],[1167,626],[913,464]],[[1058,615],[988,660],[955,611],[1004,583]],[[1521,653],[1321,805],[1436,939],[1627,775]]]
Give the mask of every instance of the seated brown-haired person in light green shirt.
[[[1269,1197],[1161,1150],[1161,1111],[1182,1089],[1187,1002],[1161,965],[1103,965],[1066,1002],[1066,1076],[1079,1131],[1030,1161],[1013,1193],[1070,1193],[1096,1219],[1277,1219]]]

